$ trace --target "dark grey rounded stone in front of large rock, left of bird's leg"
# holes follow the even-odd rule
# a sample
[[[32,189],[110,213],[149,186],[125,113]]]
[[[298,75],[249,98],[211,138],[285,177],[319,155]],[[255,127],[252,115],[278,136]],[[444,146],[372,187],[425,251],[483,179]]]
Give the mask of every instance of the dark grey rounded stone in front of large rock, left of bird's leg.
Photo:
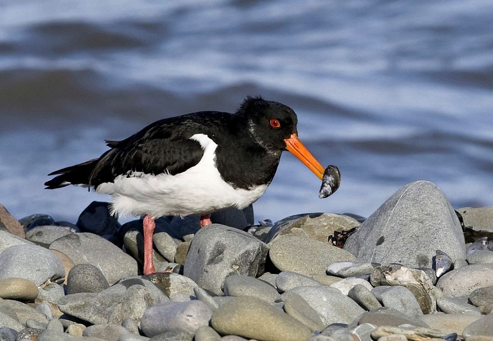
[[[67,294],[100,292],[109,288],[109,283],[100,269],[92,264],[76,264],[67,277]]]

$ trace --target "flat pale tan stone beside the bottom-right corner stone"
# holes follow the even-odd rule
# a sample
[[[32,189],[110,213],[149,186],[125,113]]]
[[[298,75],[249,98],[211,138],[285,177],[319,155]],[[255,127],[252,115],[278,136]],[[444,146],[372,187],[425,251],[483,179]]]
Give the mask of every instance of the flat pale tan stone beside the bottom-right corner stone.
[[[465,327],[481,318],[478,315],[470,314],[446,314],[437,312],[435,314],[426,314],[420,317],[420,320],[426,323],[431,329],[437,329],[443,333],[457,333],[462,335]]]

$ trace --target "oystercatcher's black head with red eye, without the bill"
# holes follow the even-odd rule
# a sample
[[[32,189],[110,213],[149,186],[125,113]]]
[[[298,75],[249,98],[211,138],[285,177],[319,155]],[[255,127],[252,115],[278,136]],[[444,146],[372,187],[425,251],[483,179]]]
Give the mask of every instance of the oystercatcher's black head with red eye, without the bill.
[[[282,103],[247,97],[238,113],[245,116],[252,138],[269,152],[285,150],[284,140],[298,134],[296,114]]]

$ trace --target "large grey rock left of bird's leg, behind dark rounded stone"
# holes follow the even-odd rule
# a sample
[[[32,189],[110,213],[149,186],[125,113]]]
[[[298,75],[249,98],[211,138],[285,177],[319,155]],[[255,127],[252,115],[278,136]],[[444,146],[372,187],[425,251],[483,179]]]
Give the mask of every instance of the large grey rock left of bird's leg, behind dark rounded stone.
[[[98,267],[109,284],[137,274],[137,261],[106,239],[92,233],[75,233],[55,240],[50,249],[65,253],[75,264]]]

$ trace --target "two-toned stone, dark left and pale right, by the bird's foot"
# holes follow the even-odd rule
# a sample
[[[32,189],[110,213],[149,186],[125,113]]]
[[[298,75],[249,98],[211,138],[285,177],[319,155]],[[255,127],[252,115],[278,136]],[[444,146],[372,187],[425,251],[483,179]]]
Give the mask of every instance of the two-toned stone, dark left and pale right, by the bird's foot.
[[[151,273],[142,278],[154,283],[172,301],[183,301],[183,298],[186,298],[186,301],[193,299],[194,289],[198,287],[193,280],[178,273]]]

